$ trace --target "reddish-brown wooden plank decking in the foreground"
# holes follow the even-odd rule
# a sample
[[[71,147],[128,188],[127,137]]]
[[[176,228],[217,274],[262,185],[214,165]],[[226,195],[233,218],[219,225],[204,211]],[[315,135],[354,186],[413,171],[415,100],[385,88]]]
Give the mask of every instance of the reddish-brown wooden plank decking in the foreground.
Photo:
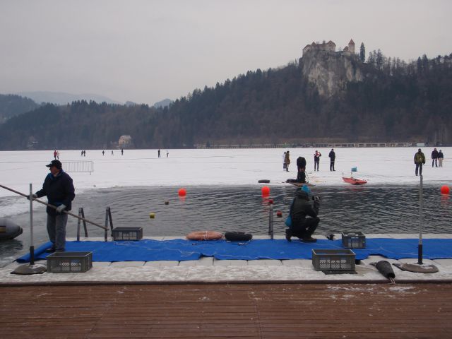
[[[0,287],[0,338],[452,338],[451,284]]]

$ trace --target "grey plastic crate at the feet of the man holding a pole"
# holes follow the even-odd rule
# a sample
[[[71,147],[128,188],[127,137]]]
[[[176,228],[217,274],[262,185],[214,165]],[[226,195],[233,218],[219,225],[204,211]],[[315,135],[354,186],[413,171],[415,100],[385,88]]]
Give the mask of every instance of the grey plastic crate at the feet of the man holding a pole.
[[[83,273],[93,267],[93,252],[54,252],[47,256],[47,272]]]

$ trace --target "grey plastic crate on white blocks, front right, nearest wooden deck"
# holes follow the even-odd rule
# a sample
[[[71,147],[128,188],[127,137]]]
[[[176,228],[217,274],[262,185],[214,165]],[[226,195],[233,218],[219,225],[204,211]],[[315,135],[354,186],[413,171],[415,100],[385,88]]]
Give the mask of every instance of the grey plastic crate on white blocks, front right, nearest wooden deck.
[[[313,249],[314,270],[355,270],[355,253],[351,249]]]

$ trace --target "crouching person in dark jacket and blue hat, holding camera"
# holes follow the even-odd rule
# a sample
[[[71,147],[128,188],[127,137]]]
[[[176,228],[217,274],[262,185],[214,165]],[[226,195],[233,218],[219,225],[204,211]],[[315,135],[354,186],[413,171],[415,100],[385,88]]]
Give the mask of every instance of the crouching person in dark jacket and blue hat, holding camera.
[[[317,239],[311,237],[320,219],[319,214],[320,198],[314,196],[314,206],[309,202],[309,195],[301,187],[295,191],[295,198],[290,206],[290,217],[292,225],[285,231],[285,239],[290,242],[290,237],[299,237],[303,242],[316,242]],[[307,216],[312,218],[307,218]]]

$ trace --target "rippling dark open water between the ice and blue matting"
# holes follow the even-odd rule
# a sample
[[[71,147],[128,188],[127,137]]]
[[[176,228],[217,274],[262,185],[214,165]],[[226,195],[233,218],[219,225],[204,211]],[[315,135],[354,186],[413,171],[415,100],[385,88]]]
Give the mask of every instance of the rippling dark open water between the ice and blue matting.
[[[104,225],[105,208],[109,206],[114,227],[143,227],[146,237],[179,236],[196,230],[266,234],[270,198],[273,199],[275,234],[283,234],[296,188],[290,184],[270,186],[270,196],[263,197],[261,186],[186,186],[184,198],[177,195],[178,189],[168,186],[97,189],[77,194],[72,212],[77,214],[78,208],[83,207],[85,218]],[[321,223],[316,234],[419,232],[418,186],[314,186],[311,193],[321,196]],[[0,208],[7,208],[15,199],[23,198],[1,198]],[[441,196],[436,186],[424,186],[423,206],[422,232],[452,232],[449,196]],[[277,210],[282,211],[283,218],[276,217]],[[155,218],[151,219],[150,213],[155,213]],[[24,231],[16,239],[0,242],[0,267],[27,252],[30,246],[28,210],[8,218]],[[35,248],[48,241],[46,218],[44,206],[34,209]],[[76,237],[76,229],[77,220],[69,217],[67,236]],[[88,224],[88,236],[103,237],[103,231]]]

